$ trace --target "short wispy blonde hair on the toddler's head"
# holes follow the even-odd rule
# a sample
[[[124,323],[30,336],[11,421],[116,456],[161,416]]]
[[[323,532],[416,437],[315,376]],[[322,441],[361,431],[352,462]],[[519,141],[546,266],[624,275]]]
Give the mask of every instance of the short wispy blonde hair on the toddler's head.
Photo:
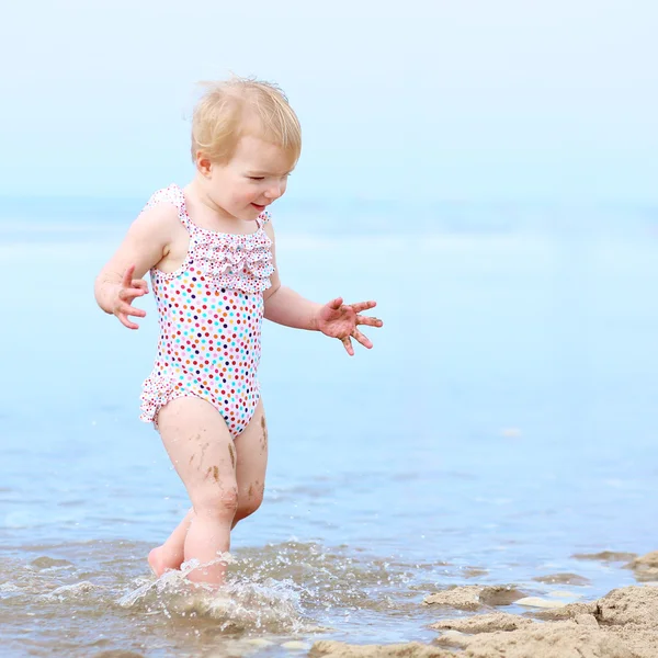
[[[283,148],[295,163],[302,152],[302,128],[283,91],[271,82],[234,77],[206,82],[192,115],[192,160],[202,151],[212,162],[232,157],[243,135]]]

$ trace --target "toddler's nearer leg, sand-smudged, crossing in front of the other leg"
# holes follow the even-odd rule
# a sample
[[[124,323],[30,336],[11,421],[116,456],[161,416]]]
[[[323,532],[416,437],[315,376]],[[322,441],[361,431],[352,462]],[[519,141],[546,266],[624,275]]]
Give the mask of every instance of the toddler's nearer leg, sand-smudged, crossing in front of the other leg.
[[[219,412],[195,397],[177,398],[162,407],[158,428],[194,509],[183,559],[206,565],[230,547],[230,527],[238,508],[232,439]],[[192,570],[188,578],[220,585],[225,571],[226,565],[216,563]]]

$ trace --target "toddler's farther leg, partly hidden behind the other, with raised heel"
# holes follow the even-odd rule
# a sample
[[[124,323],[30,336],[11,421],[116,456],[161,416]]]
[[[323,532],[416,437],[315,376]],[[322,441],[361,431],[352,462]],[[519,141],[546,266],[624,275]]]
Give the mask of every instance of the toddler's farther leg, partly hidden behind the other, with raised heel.
[[[231,530],[238,521],[251,515],[263,500],[265,469],[268,466],[268,427],[262,400],[259,401],[249,426],[235,439],[238,510]],[[167,569],[179,569],[183,563],[183,546],[188,529],[194,517],[191,509],[162,546],[154,548],[148,561],[156,576]]]

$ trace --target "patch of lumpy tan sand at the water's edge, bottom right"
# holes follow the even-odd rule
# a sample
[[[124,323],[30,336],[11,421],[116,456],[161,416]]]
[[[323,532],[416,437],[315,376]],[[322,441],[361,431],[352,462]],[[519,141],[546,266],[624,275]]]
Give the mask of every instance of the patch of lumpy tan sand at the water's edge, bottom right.
[[[576,556],[575,556],[576,557]],[[579,559],[616,560],[619,554],[580,555]],[[658,551],[631,558],[643,585],[612,590],[590,602],[569,603],[571,591],[526,597],[513,586],[454,587],[426,597],[423,605],[455,616],[431,625],[433,644],[349,645],[317,642],[309,656],[320,658],[656,658],[658,656]],[[543,581],[546,577],[542,578]],[[553,582],[580,585],[576,574],[556,574]],[[509,614],[500,608],[527,606]],[[464,614],[475,613],[475,614]],[[458,615],[458,616],[457,616]]]

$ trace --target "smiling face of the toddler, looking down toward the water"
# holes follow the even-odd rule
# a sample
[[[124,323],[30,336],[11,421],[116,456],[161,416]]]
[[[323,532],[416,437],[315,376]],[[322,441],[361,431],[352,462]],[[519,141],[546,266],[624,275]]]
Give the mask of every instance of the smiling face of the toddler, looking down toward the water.
[[[204,173],[206,189],[226,217],[254,220],[283,196],[293,166],[281,147],[246,135],[228,162],[209,163]]]

